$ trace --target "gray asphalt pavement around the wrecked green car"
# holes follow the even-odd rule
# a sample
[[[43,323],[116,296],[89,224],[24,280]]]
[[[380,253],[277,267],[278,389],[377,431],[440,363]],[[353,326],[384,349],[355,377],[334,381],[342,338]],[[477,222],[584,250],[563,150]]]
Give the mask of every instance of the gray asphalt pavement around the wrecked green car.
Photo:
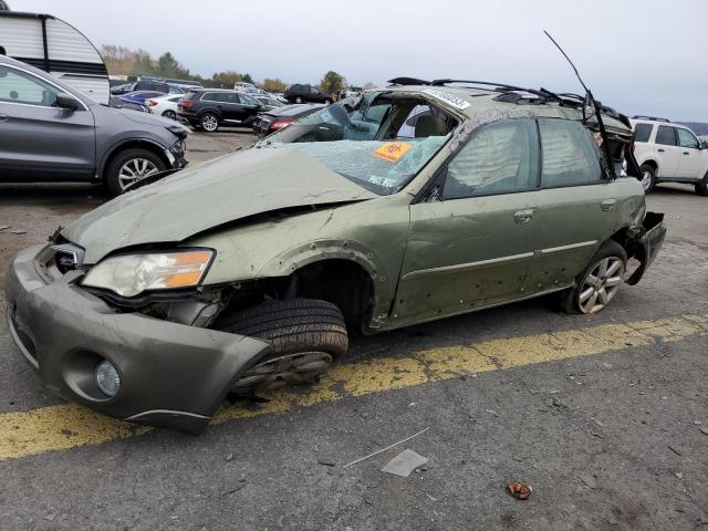
[[[188,158],[250,142],[238,131],[195,134]],[[0,271],[18,249],[104,200],[95,186],[0,185],[0,226],[24,231],[0,231]],[[12,423],[61,400],[41,388],[2,322],[0,455],[10,450],[0,460],[0,529],[708,529],[708,199],[670,185],[647,202],[666,212],[665,248],[601,314],[569,316],[533,300],[354,337],[347,355],[367,367],[506,345],[513,363],[504,368],[378,387],[364,372],[358,392],[242,415],[199,437],[156,430],[23,452]],[[701,324],[688,326],[694,319]],[[625,323],[656,332],[637,343],[616,332]],[[677,323],[685,326],[663,332]],[[575,331],[594,350],[538,358],[541,335],[570,352],[575,342],[563,337]],[[247,406],[259,407],[268,405]],[[408,478],[382,472],[405,448],[427,465]],[[530,498],[509,496],[509,481],[530,485]]]

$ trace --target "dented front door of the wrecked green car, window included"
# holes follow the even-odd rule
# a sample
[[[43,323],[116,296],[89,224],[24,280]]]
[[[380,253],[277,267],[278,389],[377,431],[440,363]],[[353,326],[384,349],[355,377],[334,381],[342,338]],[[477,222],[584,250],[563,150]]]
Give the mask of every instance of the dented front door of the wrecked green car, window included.
[[[425,321],[524,296],[538,238],[538,134],[531,119],[478,131],[435,197],[410,206],[394,322]]]

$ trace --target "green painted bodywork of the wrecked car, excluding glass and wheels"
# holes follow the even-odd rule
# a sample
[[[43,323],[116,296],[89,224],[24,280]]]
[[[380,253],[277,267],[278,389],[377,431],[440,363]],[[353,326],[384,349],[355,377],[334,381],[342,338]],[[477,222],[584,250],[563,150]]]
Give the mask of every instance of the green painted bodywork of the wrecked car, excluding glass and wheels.
[[[665,232],[660,217],[652,227],[643,227],[646,208],[639,180],[605,177],[600,150],[596,179],[582,186],[544,188],[534,177],[535,185],[513,192],[445,196],[448,166],[486,127],[523,122],[529,138],[540,143],[538,124],[577,123],[581,110],[500,102],[497,92],[447,86],[393,86],[369,95],[369,104],[379,95],[394,102],[415,100],[455,124],[399,187],[382,191],[381,184],[388,181],[381,176],[362,183],[298,146],[270,145],[285,136],[283,129],[274,140],[268,137],[251,149],[166,177],[70,223],[58,241],[82,249],[77,271],[46,281],[35,271],[37,250],[21,253],[8,277],[10,327],[50,388],[108,415],[198,431],[229,392],[229,383],[267,353],[268,345],[252,337],[233,335],[229,341],[223,332],[190,326],[191,319],[187,324],[156,319],[143,310],[149,300],[139,296],[142,305],[136,302],[124,314],[133,301],[114,304],[113,299],[82,288],[84,271],[121,253],[214,250],[199,288],[174,294],[181,296],[175,306],[191,311],[194,305],[197,313],[220,301],[225,289],[271,280],[294,282],[313,264],[351,264],[371,285],[369,308],[358,324],[372,333],[571,288],[593,254],[613,238],[645,267],[660,248]],[[616,116],[607,115],[604,122],[608,135],[631,153],[631,128]],[[585,125],[596,128],[594,118]],[[407,144],[414,153],[414,139]],[[541,175],[541,168],[539,159],[538,168],[530,164],[527,170],[533,177]],[[77,325],[82,320],[93,324]],[[121,333],[124,325],[129,333]],[[188,337],[192,331],[188,343],[205,353],[205,365],[184,391],[186,384],[179,378],[191,367],[185,356],[194,353],[169,339]],[[83,368],[67,371],[62,365],[72,353],[114,352],[116,343],[123,374],[132,375],[129,396],[96,400],[66,379],[66,375],[84,377]],[[155,395],[157,366],[146,361],[146,350],[155,354],[149,360],[171,364],[165,374],[177,378],[176,386],[163,384]]]

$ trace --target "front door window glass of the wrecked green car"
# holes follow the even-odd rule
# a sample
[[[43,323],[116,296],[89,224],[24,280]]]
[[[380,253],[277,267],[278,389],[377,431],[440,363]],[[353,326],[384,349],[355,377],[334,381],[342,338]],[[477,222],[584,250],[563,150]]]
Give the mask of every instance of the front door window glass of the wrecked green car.
[[[531,119],[510,119],[482,127],[448,164],[442,198],[535,188],[538,145]]]

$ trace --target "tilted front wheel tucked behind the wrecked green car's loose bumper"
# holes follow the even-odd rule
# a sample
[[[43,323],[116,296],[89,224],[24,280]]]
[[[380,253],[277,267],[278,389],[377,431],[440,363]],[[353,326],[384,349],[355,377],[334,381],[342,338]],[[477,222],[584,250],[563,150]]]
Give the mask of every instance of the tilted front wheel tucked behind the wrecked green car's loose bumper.
[[[340,309],[315,299],[268,301],[220,320],[216,327],[272,345],[233,385],[232,393],[240,396],[310,383],[348,346]]]

